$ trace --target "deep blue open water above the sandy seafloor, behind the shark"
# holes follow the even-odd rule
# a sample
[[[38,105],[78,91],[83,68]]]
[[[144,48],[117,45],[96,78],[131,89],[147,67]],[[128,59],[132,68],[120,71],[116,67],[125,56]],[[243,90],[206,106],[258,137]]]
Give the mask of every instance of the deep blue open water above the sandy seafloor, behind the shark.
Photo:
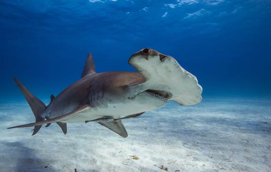
[[[23,99],[14,76],[49,98],[87,53],[98,72],[135,71],[146,47],[193,73],[203,98],[271,96],[270,0],[0,0],[0,38],[1,101]]]

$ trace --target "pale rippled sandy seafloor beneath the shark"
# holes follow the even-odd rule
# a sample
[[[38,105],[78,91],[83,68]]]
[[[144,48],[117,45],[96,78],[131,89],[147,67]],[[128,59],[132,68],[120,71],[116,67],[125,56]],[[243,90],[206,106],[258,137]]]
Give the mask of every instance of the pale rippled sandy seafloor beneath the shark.
[[[170,102],[123,120],[128,138],[96,122],[6,129],[33,121],[26,101],[0,103],[0,172],[271,172],[268,99]]]

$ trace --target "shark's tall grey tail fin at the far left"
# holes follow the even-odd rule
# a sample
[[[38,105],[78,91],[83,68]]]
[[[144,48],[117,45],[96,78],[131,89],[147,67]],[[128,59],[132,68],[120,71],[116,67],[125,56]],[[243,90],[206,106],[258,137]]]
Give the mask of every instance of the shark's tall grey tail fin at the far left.
[[[42,101],[40,101],[37,97],[35,97],[25,86],[20,83],[19,80],[17,80],[14,77],[15,83],[19,86],[20,90],[24,94],[29,106],[31,107],[32,112],[34,113],[36,122],[44,120],[43,117],[41,117],[42,112],[45,110],[46,106]],[[41,125],[34,126],[33,134],[36,134],[38,130],[40,129]]]

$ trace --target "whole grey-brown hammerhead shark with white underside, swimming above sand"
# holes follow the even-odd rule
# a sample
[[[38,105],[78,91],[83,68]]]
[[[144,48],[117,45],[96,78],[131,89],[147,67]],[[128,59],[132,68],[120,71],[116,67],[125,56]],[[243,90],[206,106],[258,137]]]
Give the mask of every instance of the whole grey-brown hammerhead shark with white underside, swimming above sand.
[[[180,105],[202,101],[197,78],[170,56],[142,49],[129,59],[138,72],[97,73],[92,54],[88,54],[81,79],[51,95],[48,106],[14,78],[29,103],[35,122],[10,128],[32,127],[33,135],[43,124],[56,122],[67,133],[67,123],[96,121],[126,138],[122,119],[139,117],[165,106],[169,100]],[[9,129],[10,129],[9,128]]]

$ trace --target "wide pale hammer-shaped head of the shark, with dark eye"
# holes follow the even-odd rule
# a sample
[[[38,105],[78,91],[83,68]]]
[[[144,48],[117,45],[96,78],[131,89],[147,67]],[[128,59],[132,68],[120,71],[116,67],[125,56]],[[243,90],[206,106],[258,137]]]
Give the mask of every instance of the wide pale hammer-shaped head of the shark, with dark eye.
[[[202,101],[203,89],[197,78],[173,57],[145,48],[132,55],[129,64],[146,79],[139,94],[148,93],[161,101],[173,100],[180,105],[194,105]]]

